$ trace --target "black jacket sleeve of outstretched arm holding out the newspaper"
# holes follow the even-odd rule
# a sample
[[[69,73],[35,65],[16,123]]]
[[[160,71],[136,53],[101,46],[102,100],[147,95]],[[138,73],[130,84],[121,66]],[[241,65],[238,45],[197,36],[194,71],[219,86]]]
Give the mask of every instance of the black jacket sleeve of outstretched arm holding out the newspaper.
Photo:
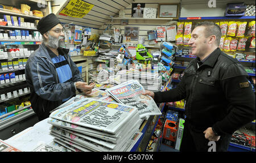
[[[176,88],[170,89],[169,91],[156,92],[154,96],[155,102],[174,102],[183,100],[186,97],[185,80],[184,75]]]

